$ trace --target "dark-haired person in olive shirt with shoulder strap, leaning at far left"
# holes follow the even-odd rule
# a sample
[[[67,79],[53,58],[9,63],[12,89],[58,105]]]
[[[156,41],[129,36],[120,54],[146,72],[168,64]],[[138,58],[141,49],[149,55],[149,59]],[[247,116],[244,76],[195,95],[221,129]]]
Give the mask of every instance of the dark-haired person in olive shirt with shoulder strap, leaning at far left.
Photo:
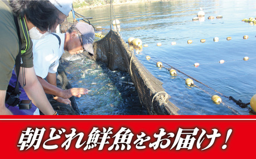
[[[57,24],[62,21],[63,13],[54,6],[53,1],[52,3],[49,1],[13,1],[10,6],[9,2],[0,1],[0,114],[12,115],[12,112],[5,106],[5,97],[15,59],[20,50],[16,28],[20,30],[20,41],[22,43],[20,48],[23,53],[19,82],[26,83],[26,85],[23,85],[23,89],[43,114],[56,114],[36,78],[32,61],[31,39],[40,39],[48,31],[54,31]],[[17,25],[14,19],[18,23]],[[29,32],[29,35],[27,35],[27,32]],[[23,74],[26,76],[23,76]]]

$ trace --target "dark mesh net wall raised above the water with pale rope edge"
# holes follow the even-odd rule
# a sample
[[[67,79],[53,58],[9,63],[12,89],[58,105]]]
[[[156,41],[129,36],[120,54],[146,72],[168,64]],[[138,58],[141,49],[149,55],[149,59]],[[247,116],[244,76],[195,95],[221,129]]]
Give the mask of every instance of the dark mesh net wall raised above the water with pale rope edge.
[[[170,95],[164,91],[163,83],[139,62],[118,32],[110,30],[101,40],[94,42],[93,49],[94,56],[86,56],[92,60],[105,62],[110,70],[129,72],[139,99],[150,115],[178,114],[179,108],[168,100]]]

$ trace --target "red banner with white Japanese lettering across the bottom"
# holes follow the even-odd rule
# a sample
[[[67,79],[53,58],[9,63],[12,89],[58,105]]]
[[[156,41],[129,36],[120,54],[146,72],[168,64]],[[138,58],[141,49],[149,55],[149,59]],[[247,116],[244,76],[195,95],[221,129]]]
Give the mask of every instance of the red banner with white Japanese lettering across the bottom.
[[[0,116],[19,158],[251,157],[254,116]]]

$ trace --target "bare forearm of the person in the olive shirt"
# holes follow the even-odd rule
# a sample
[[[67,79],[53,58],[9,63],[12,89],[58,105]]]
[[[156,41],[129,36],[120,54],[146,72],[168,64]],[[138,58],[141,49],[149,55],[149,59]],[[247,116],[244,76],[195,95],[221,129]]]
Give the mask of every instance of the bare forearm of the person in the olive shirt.
[[[24,86],[24,90],[27,93],[28,98],[32,100],[32,102],[39,108],[40,111],[43,112],[44,115],[53,115],[55,114],[55,110],[53,110],[51,104],[49,103],[46,94],[42,88],[42,85],[36,78],[35,70],[33,68],[25,68],[26,75],[26,86]],[[19,73],[19,82],[23,83],[23,72],[22,68],[20,68]]]

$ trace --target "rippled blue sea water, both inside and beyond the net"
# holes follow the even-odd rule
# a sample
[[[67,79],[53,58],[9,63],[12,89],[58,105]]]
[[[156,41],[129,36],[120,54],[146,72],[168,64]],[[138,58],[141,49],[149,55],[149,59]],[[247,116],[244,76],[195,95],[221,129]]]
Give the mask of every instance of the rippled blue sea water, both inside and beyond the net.
[[[193,21],[200,8],[205,12],[204,19]],[[94,27],[107,28],[100,34],[108,33],[112,23],[109,7],[77,12],[86,17],[92,16],[90,22]],[[222,15],[223,18],[217,19],[217,15]],[[138,3],[114,6],[111,16],[121,22],[119,32],[125,41],[129,37],[135,37],[141,39],[143,44],[148,44],[148,47],[135,52],[135,56],[163,82],[165,91],[171,95],[170,102],[180,108],[179,114],[249,114],[249,108],[240,108],[226,97],[232,96],[248,103],[256,94],[256,26],[242,22],[242,19],[256,17],[256,1]],[[214,16],[214,19],[208,19],[208,16]],[[248,35],[249,39],[243,39],[244,35]],[[218,42],[213,41],[214,37],[218,37]],[[232,40],[226,40],[226,37],[232,37]],[[200,43],[201,39],[205,39],[205,43]],[[192,44],[188,44],[188,40],[192,40]],[[176,45],[171,45],[172,41]],[[162,45],[158,47],[156,43]],[[150,56],[151,60],[146,60],[146,56]],[[246,56],[249,57],[248,61],[243,60]],[[225,62],[220,64],[220,60]],[[156,67],[157,61],[161,61],[164,68]],[[200,64],[197,68],[193,66],[196,62]],[[86,66],[88,63],[91,66]],[[74,65],[77,65],[76,62]],[[171,66],[182,73],[177,72],[177,77],[170,76],[167,69]],[[77,67],[83,69],[67,70],[72,76],[72,85],[79,83],[81,87],[92,89],[94,95],[104,94],[102,100],[92,97],[91,103],[87,101],[87,96],[80,98],[77,102],[84,114],[144,114],[143,108],[138,111],[138,102],[122,103],[123,99],[119,90],[114,88],[113,80],[108,81],[110,75],[120,80],[119,82],[124,82],[122,80],[127,79],[127,75],[108,69],[106,71],[101,65],[88,60]],[[75,78],[73,74],[76,71],[81,76]],[[97,77],[94,77],[95,74]],[[185,79],[188,78],[186,75],[201,83],[194,81],[198,87],[188,87],[185,85]],[[89,78],[89,82],[84,81],[86,78]],[[99,78],[100,82],[94,78]],[[91,87],[93,85],[97,87]],[[222,98],[221,104],[213,103],[211,97],[214,94]],[[135,95],[133,97],[136,99]],[[126,107],[126,104],[129,106]]]

